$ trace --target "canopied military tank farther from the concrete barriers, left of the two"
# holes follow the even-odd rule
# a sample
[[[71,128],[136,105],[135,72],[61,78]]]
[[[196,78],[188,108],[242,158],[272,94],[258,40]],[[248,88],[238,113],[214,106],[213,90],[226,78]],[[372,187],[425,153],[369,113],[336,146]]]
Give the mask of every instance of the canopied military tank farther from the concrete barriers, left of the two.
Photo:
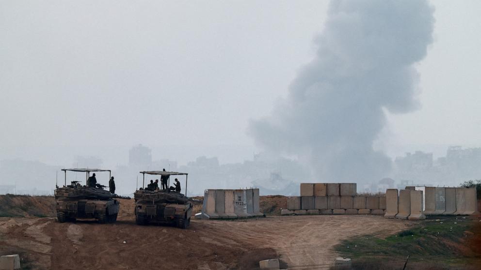
[[[109,172],[101,169],[62,169],[65,173],[63,187],[55,189],[55,201],[57,219],[63,223],[75,221],[76,219],[96,219],[99,223],[114,223],[117,220],[120,202],[116,198],[130,199],[129,197],[118,196],[104,190],[106,186],[92,184],[92,186],[81,185],[80,181],[67,182],[67,171],[85,172],[86,179],[90,172]]]

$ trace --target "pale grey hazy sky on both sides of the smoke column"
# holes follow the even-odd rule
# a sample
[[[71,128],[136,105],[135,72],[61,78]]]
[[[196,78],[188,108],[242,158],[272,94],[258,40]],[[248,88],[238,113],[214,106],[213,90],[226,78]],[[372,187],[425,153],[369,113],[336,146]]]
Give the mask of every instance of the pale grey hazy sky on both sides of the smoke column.
[[[256,150],[249,119],[269,115],[314,57],[327,4],[1,0],[1,158],[21,147],[36,159],[38,146]],[[388,116],[377,146],[387,152],[480,144],[481,2],[432,4],[421,108]]]

